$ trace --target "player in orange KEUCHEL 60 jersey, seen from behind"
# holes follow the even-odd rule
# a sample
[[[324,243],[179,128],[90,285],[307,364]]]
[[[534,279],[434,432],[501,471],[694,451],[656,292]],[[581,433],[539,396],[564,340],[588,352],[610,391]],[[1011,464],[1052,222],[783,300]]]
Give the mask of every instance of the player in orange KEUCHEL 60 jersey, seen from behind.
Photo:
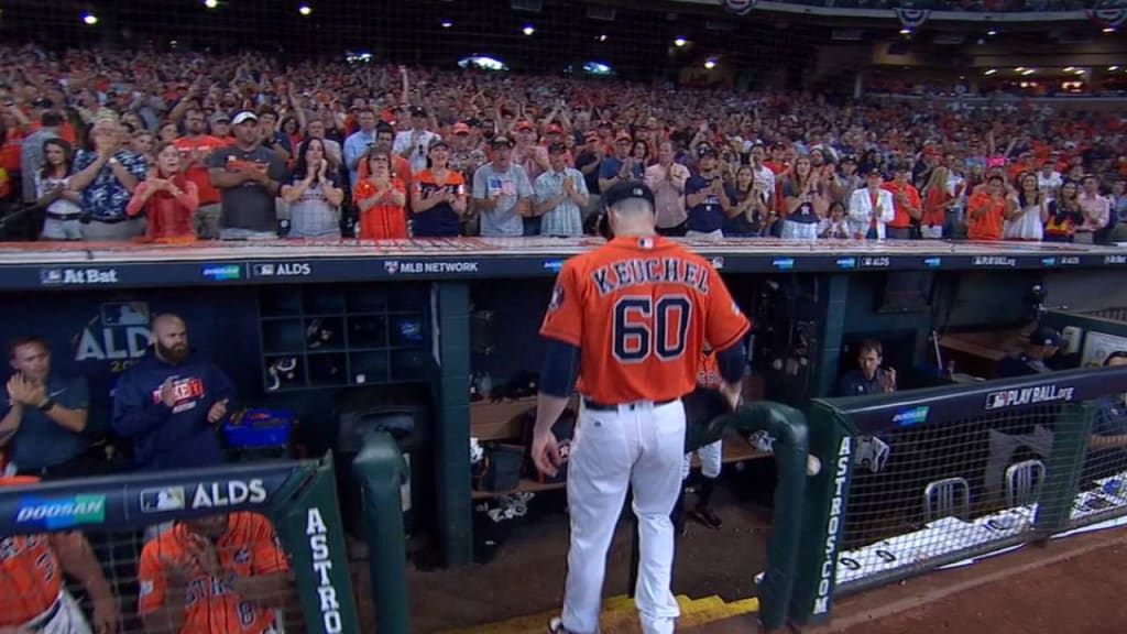
[[[635,600],[648,634],[673,632],[673,523],[685,454],[685,410],[706,342],[735,406],[747,319],[703,258],[657,236],[654,193],[638,182],[603,194],[614,238],[564,263],[540,334],[544,363],[532,458],[560,465],[552,424],[578,373],[579,419],[568,457],[571,543],[561,618],[552,632],[598,629],[606,552],[628,487],[641,534]]]

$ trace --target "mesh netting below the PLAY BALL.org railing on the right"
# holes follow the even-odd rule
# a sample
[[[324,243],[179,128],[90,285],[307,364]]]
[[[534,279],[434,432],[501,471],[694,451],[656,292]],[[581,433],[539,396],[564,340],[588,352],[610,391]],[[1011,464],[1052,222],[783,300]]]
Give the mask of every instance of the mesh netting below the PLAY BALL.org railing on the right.
[[[1085,424],[1077,408],[1035,406],[858,437],[838,589],[1033,539],[1042,500],[1071,499],[1071,528],[1127,514],[1127,452],[1116,426],[1122,397],[1094,406],[1076,483],[1050,478],[1049,469],[1070,468],[1050,460],[1054,448],[1076,441]]]

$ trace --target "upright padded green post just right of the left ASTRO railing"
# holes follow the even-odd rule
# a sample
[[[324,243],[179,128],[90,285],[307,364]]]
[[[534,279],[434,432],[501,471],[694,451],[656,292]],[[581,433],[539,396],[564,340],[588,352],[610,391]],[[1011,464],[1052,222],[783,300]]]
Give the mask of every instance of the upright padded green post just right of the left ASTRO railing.
[[[364,537],[369,548],[376,632],[410,631],[407,604],[407,546],[400,486],[407,482],[407,461],[388,432],[364,438],[352,465],[364,491]]]

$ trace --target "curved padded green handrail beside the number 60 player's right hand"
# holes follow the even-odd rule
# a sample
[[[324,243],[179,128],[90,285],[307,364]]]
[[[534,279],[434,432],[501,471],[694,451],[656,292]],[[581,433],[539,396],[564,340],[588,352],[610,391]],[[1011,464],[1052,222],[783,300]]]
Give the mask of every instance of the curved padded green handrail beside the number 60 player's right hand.
[[[757,402],[740,406],[708,425],[701,443],[724,435],[727,428],[740,432],[765,431],[774,441],[779,482],[774,492],[774,517],[767,540],[767,570],[760,583],[760,623],[766,629],[787,625],[801,539],[802,501],[809,454],[806,416],[780,403]],[[716,438],[711,438],[716,435]]]

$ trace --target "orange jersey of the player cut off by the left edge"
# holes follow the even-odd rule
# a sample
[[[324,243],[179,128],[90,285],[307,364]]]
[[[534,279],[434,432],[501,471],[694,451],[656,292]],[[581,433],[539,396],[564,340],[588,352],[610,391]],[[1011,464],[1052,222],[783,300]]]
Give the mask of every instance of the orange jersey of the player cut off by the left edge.
[[[0,477],[0,486],[36,484],[37,477]],[[0,538],[0,627],[16,627],[59,598],[62,571],[47,535]]]

